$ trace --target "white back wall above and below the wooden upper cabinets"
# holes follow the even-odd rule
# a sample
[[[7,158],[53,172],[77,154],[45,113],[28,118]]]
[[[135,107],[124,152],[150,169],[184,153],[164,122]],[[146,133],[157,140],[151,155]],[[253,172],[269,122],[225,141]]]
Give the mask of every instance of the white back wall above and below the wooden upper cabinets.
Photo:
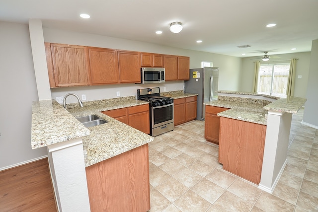
[[[140,52],[152,52],[159,54],[170,54],[190,57],[190,69],[200,68],[201,61],[212,61],[215,67],[219,67],[219,89],[238,90],[241,59],[231,56],[218,55],[213,53],[191,51],[185,49],[171,48],[151,43],[124,40],[119,38],[106,37],[95,34],[79,33],[59,29],[43,28],[44,41],[51,43],[74,44],[83,46],[94,46],[110,49],[121,49]],[[86,101],[97,99],[116,98],[116,91],[120,91],[120,96],[133,96],[137,94],[137,89],[150,86],[159,86],[160,91],[166,87],[166,91],[182,90],[183,81],[170,81],[161,84],[118,84],[83,86],[70,88],[51,88],[52,98],[64,96],[69,92],[74,92],[81,96],[86,95]],[[67,99],[67,103],[76,102],[76,98]]]

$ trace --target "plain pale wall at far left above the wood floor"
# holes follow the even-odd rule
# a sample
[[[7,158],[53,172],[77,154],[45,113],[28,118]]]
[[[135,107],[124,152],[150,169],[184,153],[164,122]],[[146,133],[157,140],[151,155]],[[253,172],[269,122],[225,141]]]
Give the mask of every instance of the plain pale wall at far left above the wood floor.
[[[27,25],[0,22],[0,170],[47,155],[31,149],[32,101],[38,100]]]

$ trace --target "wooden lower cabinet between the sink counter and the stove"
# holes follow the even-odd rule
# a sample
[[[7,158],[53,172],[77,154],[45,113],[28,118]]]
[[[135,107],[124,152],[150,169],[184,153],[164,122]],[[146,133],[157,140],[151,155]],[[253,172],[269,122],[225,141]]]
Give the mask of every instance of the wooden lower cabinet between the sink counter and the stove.
[[[102,111],[118,121],[125,123],[143,133],[150,134],[149,105],[138,105],[115,110]]]

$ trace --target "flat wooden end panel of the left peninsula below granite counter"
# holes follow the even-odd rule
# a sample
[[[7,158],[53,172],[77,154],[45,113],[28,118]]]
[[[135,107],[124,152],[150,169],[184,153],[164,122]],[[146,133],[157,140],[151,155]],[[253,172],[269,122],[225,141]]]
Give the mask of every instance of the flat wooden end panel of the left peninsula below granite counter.
[[[91,212],[150,210],[148,143],[86,167]]]

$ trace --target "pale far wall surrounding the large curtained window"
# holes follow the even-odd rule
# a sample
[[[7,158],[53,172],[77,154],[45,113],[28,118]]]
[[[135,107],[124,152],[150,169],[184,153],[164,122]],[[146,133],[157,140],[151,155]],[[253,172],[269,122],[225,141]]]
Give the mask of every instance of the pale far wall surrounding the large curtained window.
[[[296,61],[296,79],[295,79],[295,93],[294,96],[306,98],[307,92],[307,82],[309,74],[309,64],[310,64],[310,52],[294,53],[294,54],[282,54],[278,55],[280,58],[270,59],[267,63],[262,62],[261,64],[269,63],[290,63],[292,58],[297,58]],[[254,76],[254,66],[256,60],[251,60],[255,57],[242,59],[242,68],[240,76],[240,90],[241,91],[252,91],[253,86],[253,76]],[[298,78],[301,75],[302,78]]]

